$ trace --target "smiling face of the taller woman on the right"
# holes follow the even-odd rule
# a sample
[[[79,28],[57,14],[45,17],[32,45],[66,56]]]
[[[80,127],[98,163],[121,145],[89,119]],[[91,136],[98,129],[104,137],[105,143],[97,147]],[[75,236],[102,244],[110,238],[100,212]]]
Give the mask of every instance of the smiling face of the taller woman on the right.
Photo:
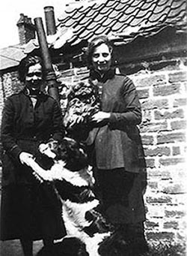
[[[101,44],[93,51],[92,65],[101,74],[111,67],[111,51],[106,44]]]

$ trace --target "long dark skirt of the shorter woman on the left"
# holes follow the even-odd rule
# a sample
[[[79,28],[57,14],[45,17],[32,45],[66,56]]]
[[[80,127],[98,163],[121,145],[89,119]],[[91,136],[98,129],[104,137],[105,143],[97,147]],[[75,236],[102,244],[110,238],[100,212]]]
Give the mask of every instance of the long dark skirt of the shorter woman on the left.
[[[48,182],[7,185],[1,191],[1,240],[66,235],[61,202]]]

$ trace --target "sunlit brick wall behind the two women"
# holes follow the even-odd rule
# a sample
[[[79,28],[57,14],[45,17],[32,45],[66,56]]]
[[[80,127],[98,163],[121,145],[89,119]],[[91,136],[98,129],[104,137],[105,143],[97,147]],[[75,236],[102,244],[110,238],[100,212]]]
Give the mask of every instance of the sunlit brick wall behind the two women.
[[[182,243],[186,236],[186,84],[183,59],[129,77],[141,100],[141,137],[147,161],[146,233],[154,241]],[[58,80],[72,85],[88,76],[86,68],[61,71]],[[17,90],[17,74],[0,80],[0,116],[4,99]]]

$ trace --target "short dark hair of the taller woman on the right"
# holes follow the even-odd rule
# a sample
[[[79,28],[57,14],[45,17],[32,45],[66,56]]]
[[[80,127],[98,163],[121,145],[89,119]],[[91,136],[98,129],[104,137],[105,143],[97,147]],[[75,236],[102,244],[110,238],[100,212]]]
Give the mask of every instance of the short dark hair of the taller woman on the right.
[[[111,41],[109,41],[106,35],[99,35],[93,38],[88,44],[88,50],[87,50],[88,68],[92,67],[92,56],[95,48],[99,47],[99,45],[101,44],[106,44],[109,50],[112,51],[113,47],[112,47]]]

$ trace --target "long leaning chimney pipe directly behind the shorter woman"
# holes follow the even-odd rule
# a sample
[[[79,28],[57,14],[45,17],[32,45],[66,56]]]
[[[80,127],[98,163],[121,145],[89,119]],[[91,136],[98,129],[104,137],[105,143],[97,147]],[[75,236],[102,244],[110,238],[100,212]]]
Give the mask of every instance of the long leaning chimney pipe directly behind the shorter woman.
[[[51,95],[59,103],[58,85],[56,82],[55,72],[52,68],[52,60],[49,54],[49,48],[46,41],[46,34],[43,28],[42,18],[37,17],[34,19],[34,24],[37,29],[37,38],[40,44],[40,50],[43,58],[43,65],[46,70],[46,83],[49,86],[49,95]]]

